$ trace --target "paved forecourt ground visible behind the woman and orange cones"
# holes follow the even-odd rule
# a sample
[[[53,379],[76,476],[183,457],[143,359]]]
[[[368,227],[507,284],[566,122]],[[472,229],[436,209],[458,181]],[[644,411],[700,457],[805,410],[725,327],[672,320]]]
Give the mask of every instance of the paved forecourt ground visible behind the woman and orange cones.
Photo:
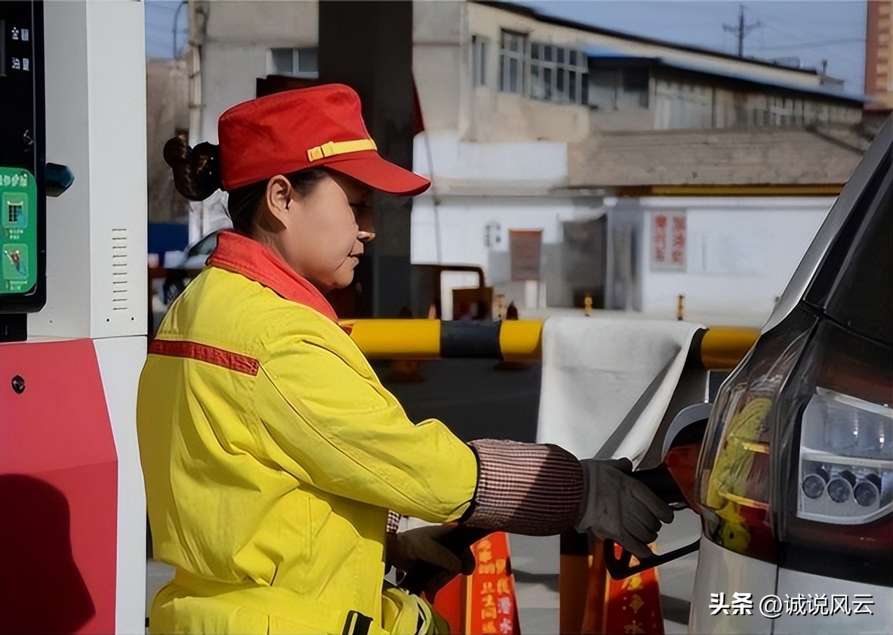
[[[488,360],[441,360],[423,362],[425,380],[414,383],[389,381],[391,368],[377,363],[376,370],[403,403],[413,420],[437,417],[463,440],[502,438],[533,441],[539,405],[538,363],[522,370],[497,370]],[[658,548],[666,551],[694,540],[699,532],[697,516],[685,512],[664,528]],[[525,635],[555,633],[558,629],[558,539],[512,536],[513,569],[522,632]],[[663,617],[667,633],[687,632],[689,600],[694,583],[697,554],[664,565],[659,572]],[[150,562],[146,598],[170,579],[170,568]]]

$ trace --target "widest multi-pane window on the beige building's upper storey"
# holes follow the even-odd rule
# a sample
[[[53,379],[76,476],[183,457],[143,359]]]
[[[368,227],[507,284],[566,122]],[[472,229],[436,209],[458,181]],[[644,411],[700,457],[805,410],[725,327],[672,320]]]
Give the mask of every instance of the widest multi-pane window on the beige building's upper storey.
[[[566,46],[530,45],[530,96],[547,102],[584,103],[586,55]]]

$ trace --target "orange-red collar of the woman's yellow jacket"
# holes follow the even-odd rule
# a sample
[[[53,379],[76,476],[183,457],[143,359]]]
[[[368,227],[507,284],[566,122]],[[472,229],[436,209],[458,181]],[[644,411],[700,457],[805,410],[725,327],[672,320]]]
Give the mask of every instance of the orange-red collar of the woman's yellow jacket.
[[[335,309],[319,289],[252,238],[232,231],[221,232],[217,235],[217,249],[208,258],[208,264],[254,280],[286,300],[316,309],[333,322],[338,322]]]

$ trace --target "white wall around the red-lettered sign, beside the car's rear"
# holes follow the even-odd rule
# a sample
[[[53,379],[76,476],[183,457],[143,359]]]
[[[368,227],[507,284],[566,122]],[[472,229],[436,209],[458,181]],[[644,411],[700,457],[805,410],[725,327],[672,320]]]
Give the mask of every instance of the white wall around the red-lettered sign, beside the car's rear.
[[[678,294],[687,314],[739,317],[761,326],[830,210],[831,197],[645,198],[642,216],[642,311],[674,316]],[[607,201],[608,213],[616,200]],[[651,216],[687,213],[686,271],[651,270]]]

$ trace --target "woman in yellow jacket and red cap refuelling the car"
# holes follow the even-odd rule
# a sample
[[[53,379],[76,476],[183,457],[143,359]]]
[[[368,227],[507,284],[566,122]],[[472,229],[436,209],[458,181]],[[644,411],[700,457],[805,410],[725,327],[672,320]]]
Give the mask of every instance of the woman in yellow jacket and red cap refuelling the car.
[[[234,231],[172,304],[140,377],[154,557],[175,567],[150,631],[434,631],[430,607],[382,579],[413,560],[458,571],[436,540],[449,529],[395,534],[389,512],[576,528],[650,554],[672,512],[628,463],[414,424],[338,326],[325,293],[351,283],[373,236],[370,191],[430,185],[379,156],[351,88],[240,103],[219,138],[164,152],[181,194],[229,193]]]

